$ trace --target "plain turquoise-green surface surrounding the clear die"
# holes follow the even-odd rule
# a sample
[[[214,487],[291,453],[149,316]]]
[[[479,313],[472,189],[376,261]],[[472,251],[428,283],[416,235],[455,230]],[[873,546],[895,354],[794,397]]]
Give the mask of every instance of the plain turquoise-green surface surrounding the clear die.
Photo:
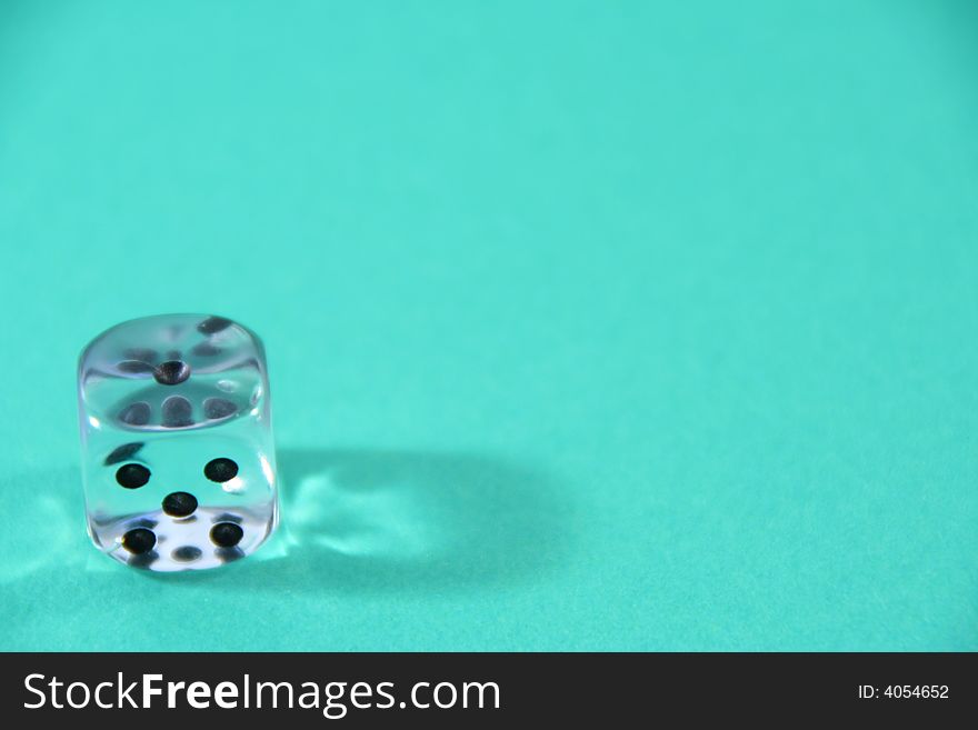
[[[978,649],[978,11],[0,4],[0,648]],[[286,530],[83,529],[76,358],[265,339]]]

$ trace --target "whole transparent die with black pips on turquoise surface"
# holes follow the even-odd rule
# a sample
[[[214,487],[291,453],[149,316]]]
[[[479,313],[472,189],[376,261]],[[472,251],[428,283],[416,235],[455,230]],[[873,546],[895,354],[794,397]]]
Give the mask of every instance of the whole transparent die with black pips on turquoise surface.
[[[136,568],[214,568],[278,521],[261,341],[228,319],[123,322],[79,362],[86,512],[96,546]]]

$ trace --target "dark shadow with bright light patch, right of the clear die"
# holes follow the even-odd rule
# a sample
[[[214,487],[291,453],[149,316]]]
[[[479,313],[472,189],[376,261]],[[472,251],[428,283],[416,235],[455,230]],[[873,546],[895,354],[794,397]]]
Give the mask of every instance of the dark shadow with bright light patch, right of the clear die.
[[[568,490],[512,459],[281,449],[278,468],[281,534],[208,572],[249,590],[423,594],[537,581],[570,552]]]

